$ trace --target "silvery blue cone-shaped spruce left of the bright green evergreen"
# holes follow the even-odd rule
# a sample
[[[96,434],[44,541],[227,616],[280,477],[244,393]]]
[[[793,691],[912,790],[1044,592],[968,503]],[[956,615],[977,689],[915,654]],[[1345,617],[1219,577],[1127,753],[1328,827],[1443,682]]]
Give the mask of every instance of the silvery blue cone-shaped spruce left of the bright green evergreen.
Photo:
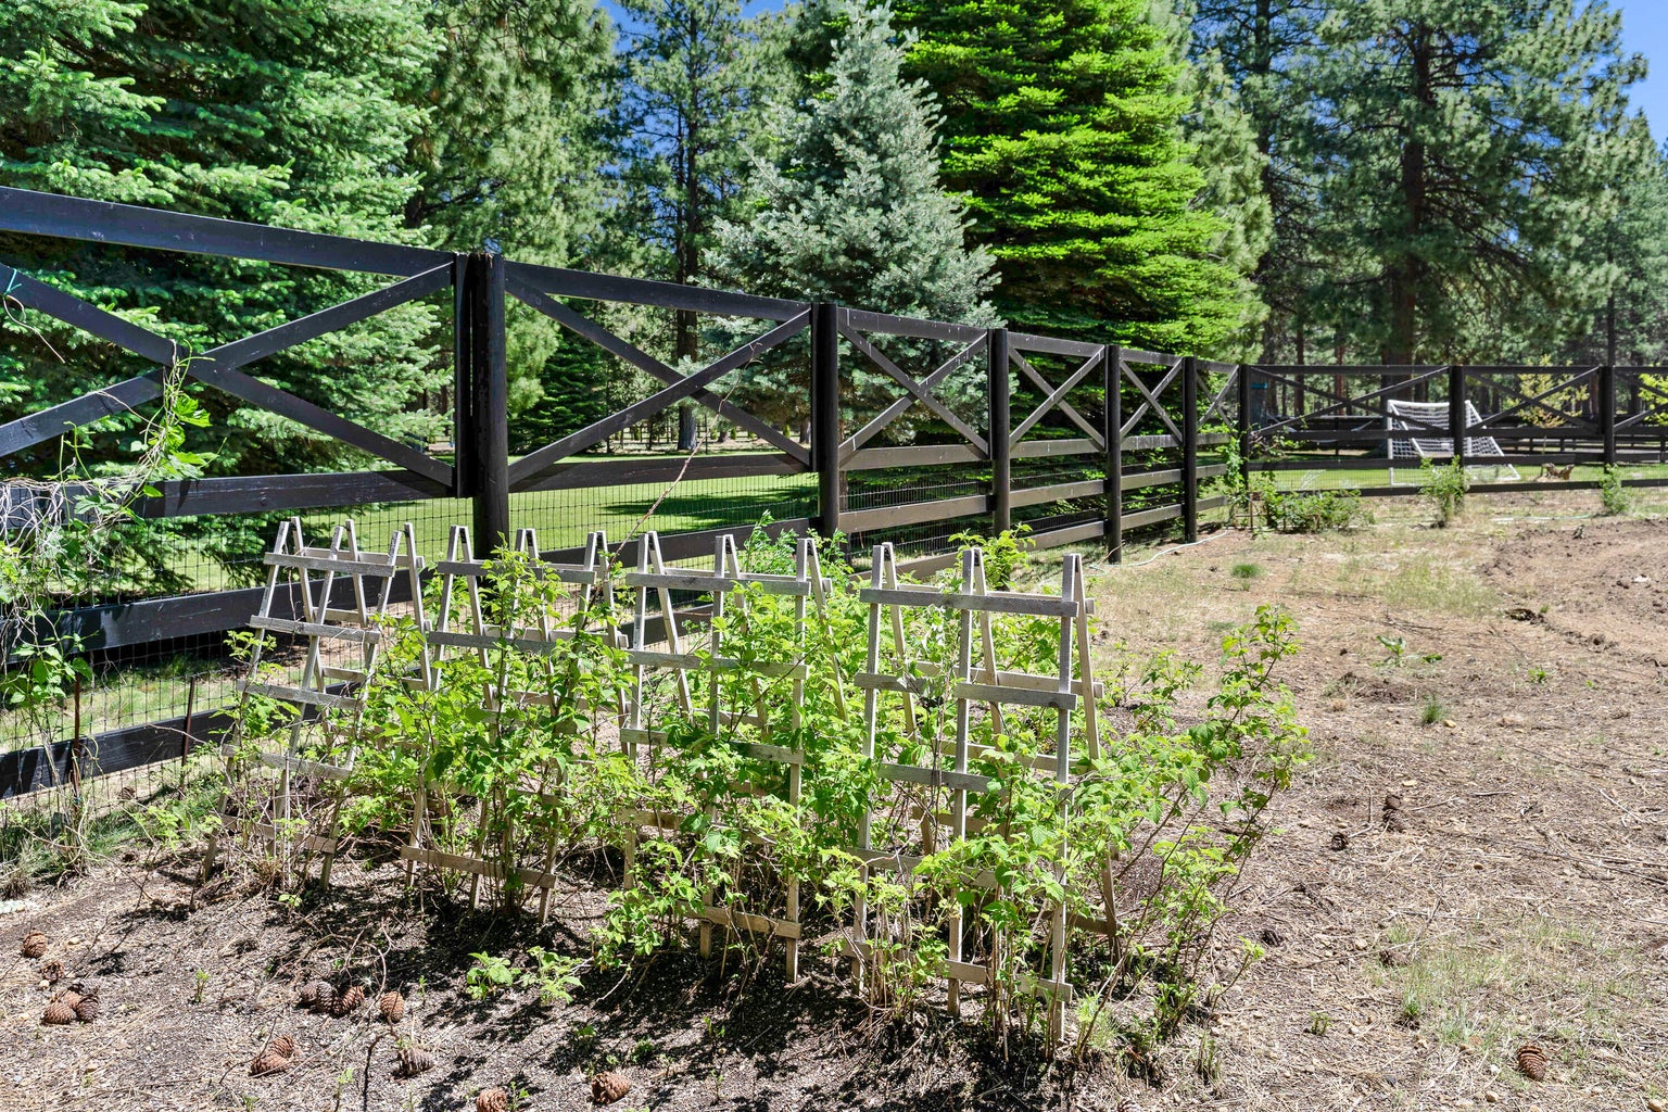
[[[716,228],[714,273],[767,297],[992,323],[982,300],[992,260],[967,250],[962,202],[939,188],[931,93],[899,75],[909,40],[892,32],[891,10],[816,3],[794,38],[797,55],[824,55],[827,70],[776,105],[764,140],[776,157],[757,160],[746,207]],[[791,365],[804,375],[802,362]],[[896,393],[896,382],[857,367],[859,393]],[[784,372],[771,360],[744,372],[754,412],[787,418],[804,408],[809,383]]]

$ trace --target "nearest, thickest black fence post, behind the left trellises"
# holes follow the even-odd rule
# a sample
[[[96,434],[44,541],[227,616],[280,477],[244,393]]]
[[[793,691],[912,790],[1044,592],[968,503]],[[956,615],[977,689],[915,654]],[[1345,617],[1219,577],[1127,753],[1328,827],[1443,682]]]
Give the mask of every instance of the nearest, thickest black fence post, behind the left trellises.
[[[504,255],[469,258],[470,295],[470,457],[475,503],[475,553],[510,543],[510,413],[504,348]]]

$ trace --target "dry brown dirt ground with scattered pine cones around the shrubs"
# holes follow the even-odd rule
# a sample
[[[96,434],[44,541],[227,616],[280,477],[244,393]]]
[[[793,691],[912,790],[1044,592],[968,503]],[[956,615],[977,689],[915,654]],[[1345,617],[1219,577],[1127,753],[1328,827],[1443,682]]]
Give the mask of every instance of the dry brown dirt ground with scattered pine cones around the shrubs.
[[[1316,760],[1224,924],[1266,957],[1159,1054],[1163,1084],[1104,1065],[1039,1067],[966,1027],[877,1032],[821,962],[691,957],[590,975],[575,1004],[467,1000],[472,950],[582,945],[575,894],[525,924],[419,907],[392,865],[339,865],[299,909],[182,865],[112,862],[0,905],[5,1109],[589,1107],[614,1065],[619,1109],[1640,1109],[1668,1104],[1668,520],[1595,518],[1595,495],[1473,497],[1454,527],[1411,500],[1346,535],[1224,533],[1099,569],[1118,640],[1209,660],[1258,604],[1288,607],[1284,672]],[[1039,559],[1046,559],[1039,557]],[[1111,639],[1109,639],[1111,640]],[[1109,640],[1106,642],[1109,645]],[[1428,722],[1428,724],[1426,724]],[[1403,830],[1383,800],[1403,797]],[[42,1027],[38,960],[95,980],[103,1015]],[[344,962],[405,989],[390,1032],[299,1012],[295,987]],[[299,1044],[267,1079],[274,1034]],[[392,1077],[397,1039],[437,1067]],[[1545,1047],[1545,1082],[1515,1070]],[[1655,1102],[1655,1104],[1653,1104]]]

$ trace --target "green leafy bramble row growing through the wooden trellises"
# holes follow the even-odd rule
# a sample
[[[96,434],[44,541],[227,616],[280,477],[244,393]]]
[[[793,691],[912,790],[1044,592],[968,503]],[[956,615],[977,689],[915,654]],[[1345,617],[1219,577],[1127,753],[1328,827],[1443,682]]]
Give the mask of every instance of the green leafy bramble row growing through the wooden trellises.
[[[1022,540],[992,548],[1014,559],[1002,572],[1011,577]],[[794,540],[757,532],[741,555],[749,570],[781,575]],[[1088,1025],[1081,1047],[1101,1024],[1143,1039],[1173,1034],[1256,955],[1248,945],[1219,969],[1213,939],[1266,834],[1264,809],[1308,754],[1274,680],[1296,652],[1291,619],[1263,607],[1231,630],[1211,680],[1174,655],[1121,650],[1101,695],[1069,712],[1063,767],[1053,707],[992,714],[956,697],[964,617],[949,607],[904,607],[899,627],[886,629],[907,647],[912,699],[864,689],[869,604],[837,557],[824,572],[821,609],[742,582],[684,649],[704,667],[682,682],[651,670],[639,687],[612,639],[615,600],[564,609],[534,560],[495,553],[482,584],[487,622],[514,630],[560,615],[567,637],[539,654],[507,640],[457,652],[434,665],[437,684],[422,684],[412,682],[420,630],[389,622],[364,715],[329,742],[359,747],[344,822],[395,842],[419,824],[425,847],[484,859],[484,874],[420,869],[415,879],[454,895],[467,885],[472,900],[504,909],[525,905],[524,877],[607,849],[622,867],[584,959],[599,967],[684,945],[691,922],[707,924],[704,937],[726,952],[764,960],[769,932],[726,930],[712,914],[797,910],[807,937],[842,939],[831,954],[881,1012],[921,1007],[959,957],[982,970],[984,1022],[1006,1034],[1041,1024],[1063,995],[1049,985],[1066,939],[1079,950],[1066,975]],[[961,590],[957,575],[937,585]],[[1002,670],[1046,675],[1059,634],[1054,619],[997,614],[987,654]],[[652,724],[646,737],[617,730],[632,699]],[[866,699],[877,699],[872,729]],[[249,705],[252,727],[287,729]],[[1094,745],[1078,740],[1091,735]],[[961,737],[966,769],[987,790],[886,770],[951,772]],[[1091,924],[1089,934],[1066,932],[1066,917]],[[854,922],[861,945],[846,942]],[[1079,960],[1084,947],[1099,955]],[[470,995],[572,995],[580,959],[529,957],[517,969],[475,955]]]

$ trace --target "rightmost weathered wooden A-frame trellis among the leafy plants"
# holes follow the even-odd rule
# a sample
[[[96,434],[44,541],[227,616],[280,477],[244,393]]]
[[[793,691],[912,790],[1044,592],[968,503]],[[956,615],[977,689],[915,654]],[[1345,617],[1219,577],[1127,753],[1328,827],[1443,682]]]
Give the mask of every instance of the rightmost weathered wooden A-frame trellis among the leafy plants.
[[[857,675],[857,685],[864,689],[864,755],[876,760],[881,777],[894,784],[916,784],[931,789],[949,790],[949,810],[939,812],[929,807],[924,815],[926,830],[936,830],[939,822],[949,825],[951,839],[964,839],[977,819],[969,817],[969,795],[992,790],[992,784],[969,770],[969,759],[976,759],[982,750],[971,739],[972,707],[984,705],[991,715],[992,732],[1002,732],[1002,707],[1039,707],[1056,712],[1054,752],[1032,760],[1041,772],[1051,772],[1053,779],[1069,794],[1073,762],[1073,712],[1079,699],[1088,697],[1088,714],[1084,714],[1084,742],[1089,755],[1099,754],[1099,732],[1094,712],[1094,699],[1099,685],[1093,679],[1089,655],[1089,602],[1083,579],[1083,557],[1068,553],[1061,569],[1061,594],[1036,595],[1021,592],[991,592],[984,575],[984,555],[977,548],[962,553],[961,584],[957,590],[939,590],[936,587],[907,585],[899,580],[897,557],[891,543],[876,545],[871,567],[869,587],[859,592],[859,599],[869,604],[869,645],[866,669]],[[876,754],[876,737],[879,732],[881,695],[891,694],[902,700],[906,729],[914,734],[919,714],[916,700],[929,690],[937,690],[942,682],[942,670],[937,662],[917,660],[904,639],[904,609],[909,607],[944,607],[957,615],[956,660],[951,665],[947,697],[956,704],[954,714],[954,752],[934,757],[932,767],[892,764],[879,760]],[[1059,624],[1058,669],[1051,675],[1014,672],[1001,669],[996,659],[996,639],[991,630],[992,614],[1017,614],[1054,619]],[[891,634],[887,639],[886,634]],[[891,650],[884,650],[884,642],[891,640]],[[977,657],[977,662],[976,662]],[[944,759],[951,767],[944,769]],[[1063,794],[1061,807],[1068,805]],[[1066,815],[1061,814],[1061,822]],[[931,837],[931,835],[929,835]],[[924,854],[934,852],[936,845],[922,845],[922,854],[904,854],[899,850],[882,852],[871,845],[871,812],[866,810],[859,829],[861,845],[857,855],[866,869],[891,869],[901,874],[914,870]],[[1064,882],[1064,862],[1054,865],[1056,882]],[[996,889],[996,877],[981,877],[981,884]],[[1064,900],[1054,905],[1049,914],[1049,975],[1046,980],[1032,979],[1026,989],[1049,999],[1049,1029],[1058,1034],[1064,1022],[1064,1005],[1071,1000],[1071,985],[1066,980],[1066,929],[1068,909]],[[872,927],[872,930],[871,930]],[[872,954],[869,939],[884,937],[886,924],[871,924],[871,912],[859,899],[852,910],[852,927],[844,939],[844,952],[852,959],[852,970],[861,979],[864,964]],[[947,982],[949,1007],[952,1014],[961,1009],[961,985],[992,985],[999,955],[992,950],[984,964],[964,960],[962,922],[956,915],[949,924],[949,957],[942,964],[942,977]]]

